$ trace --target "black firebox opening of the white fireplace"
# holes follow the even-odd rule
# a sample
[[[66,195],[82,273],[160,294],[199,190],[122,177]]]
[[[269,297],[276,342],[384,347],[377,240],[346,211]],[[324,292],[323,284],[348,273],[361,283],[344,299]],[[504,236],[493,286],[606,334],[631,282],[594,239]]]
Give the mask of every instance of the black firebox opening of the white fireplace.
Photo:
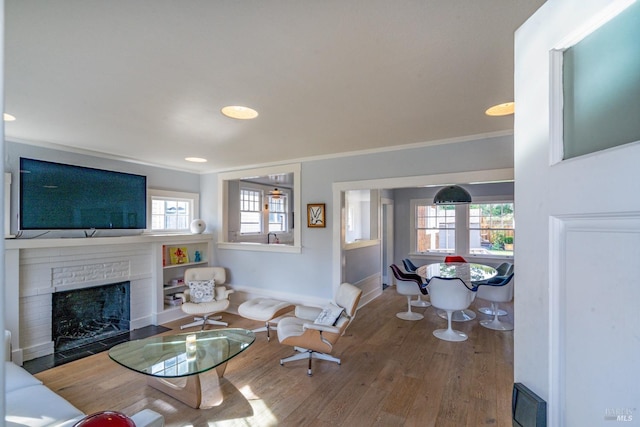
[[[51,336],[55,351],[65,351],[130,329],[129,282],[53,294]]]

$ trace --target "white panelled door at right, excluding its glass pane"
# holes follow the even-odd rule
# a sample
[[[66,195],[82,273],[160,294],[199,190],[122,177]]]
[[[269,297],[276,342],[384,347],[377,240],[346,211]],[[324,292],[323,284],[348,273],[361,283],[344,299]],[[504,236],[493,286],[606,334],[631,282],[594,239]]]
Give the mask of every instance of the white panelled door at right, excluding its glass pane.
[[[558,161],[550,136],[550,52],[629,3],[549,0],[516,33],[514,376],[550,426],[640,425],[640,144]]]

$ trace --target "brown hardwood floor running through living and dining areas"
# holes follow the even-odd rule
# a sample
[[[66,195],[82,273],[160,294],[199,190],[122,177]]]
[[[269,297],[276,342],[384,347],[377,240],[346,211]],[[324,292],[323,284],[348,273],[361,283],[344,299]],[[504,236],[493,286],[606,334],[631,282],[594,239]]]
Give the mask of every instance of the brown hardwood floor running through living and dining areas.
[[[484,301],[475,301],[487,305]],[[513,307],[502,304],[513,322]],[[86,413],[105,409],[132,414],[143,408],[165,417],[167,426],[511,426],[513,332],[483,328],[478,314],[454,323],[469,334],[462,343],[432,334],[446,327],[433,307],[413,308],[424,320],[395,314],[406,311],[406,297],[389,287],[361,308],[337,343],[342,365],[306,360],[280,366],[293,354],[277,336],[264,332],[232,359],[221,385],[224,402],[192,409],[148,387],[143,375],[111,361],[106,352],[36,376]],[[259,322],[224,314],[231,327],[256,328]],[[164,326],[179,332],[185,321]]]

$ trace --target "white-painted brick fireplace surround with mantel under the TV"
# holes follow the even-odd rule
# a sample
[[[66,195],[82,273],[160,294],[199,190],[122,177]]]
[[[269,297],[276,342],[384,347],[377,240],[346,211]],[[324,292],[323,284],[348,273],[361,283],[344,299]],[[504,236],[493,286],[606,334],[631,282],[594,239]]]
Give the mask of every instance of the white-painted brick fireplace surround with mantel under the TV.
[[[167,236],[6,240],[5,326],[13,334],[14,361],[54,352],[54,292],[128,281],[131,329],[157,324],[165,243]]]

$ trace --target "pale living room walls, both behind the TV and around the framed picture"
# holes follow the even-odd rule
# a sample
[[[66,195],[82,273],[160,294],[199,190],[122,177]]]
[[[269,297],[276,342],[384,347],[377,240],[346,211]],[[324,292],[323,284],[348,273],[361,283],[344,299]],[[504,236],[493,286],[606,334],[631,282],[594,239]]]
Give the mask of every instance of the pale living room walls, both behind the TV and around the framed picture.
[[[300,300],[315,298],[326,301],[332,297],[332,289],[336,285],[332,276],[333,227],[337,226],[332,223],[331,215],[334,209],[334,182],[511,168],[512,141],[511,135],[477,140],[467,138],[463,142],[422,148],[304,161],[301,164],[303,212],[295,213],[302,215],[302,252],[291,254],[217,249],[214,262],[229,269],[229,283],[232,286],[250,287],[289,299],[298,296]],[[217,217],[217,174],[198,176],[19,143],[8,144],[5,162],[8,170],[17,170],[20,156],[144,174],[148,176],[149,187],[153,188],[198,191],[199,186],[201,217],[207,223],[208,231],[216,234],[220,226]],[[12,188],[12,198],[17,206],[17,187]],[[326,228],[306,227],[307,203],[326,203]],[[12,216],[15,215],[14,207]]]

